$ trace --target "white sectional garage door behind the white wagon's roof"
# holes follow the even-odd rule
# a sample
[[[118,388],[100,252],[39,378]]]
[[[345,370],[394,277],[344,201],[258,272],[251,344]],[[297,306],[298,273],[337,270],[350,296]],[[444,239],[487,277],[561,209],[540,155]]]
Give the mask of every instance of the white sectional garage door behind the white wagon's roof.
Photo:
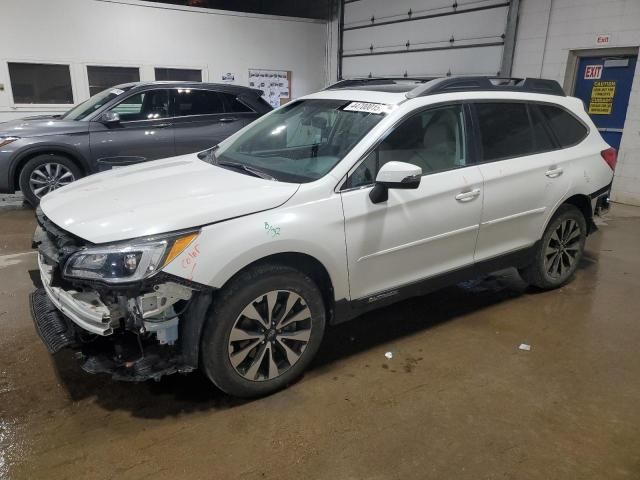
[[[497,75],[504,0],[344,0],[342,78]]]

